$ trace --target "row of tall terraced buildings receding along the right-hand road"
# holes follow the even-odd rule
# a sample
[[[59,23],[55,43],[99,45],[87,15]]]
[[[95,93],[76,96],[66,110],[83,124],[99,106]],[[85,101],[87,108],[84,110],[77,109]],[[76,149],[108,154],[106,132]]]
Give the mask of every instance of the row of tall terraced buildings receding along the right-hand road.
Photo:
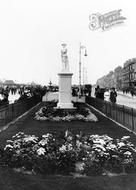
[[[97,80],[102,88],[115,87],[122,91],[136,92],[136,58],[127,60],[123,67],[118,66],[114,71]]]

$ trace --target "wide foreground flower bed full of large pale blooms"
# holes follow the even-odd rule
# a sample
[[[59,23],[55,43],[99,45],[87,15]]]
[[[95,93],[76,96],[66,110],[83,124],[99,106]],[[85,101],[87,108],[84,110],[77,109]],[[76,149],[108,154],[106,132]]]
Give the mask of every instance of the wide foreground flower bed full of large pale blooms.
[[[102,175],[136,171],[136,149],[129,136],[19,132],[0,150],[0,164],[43,174]]]

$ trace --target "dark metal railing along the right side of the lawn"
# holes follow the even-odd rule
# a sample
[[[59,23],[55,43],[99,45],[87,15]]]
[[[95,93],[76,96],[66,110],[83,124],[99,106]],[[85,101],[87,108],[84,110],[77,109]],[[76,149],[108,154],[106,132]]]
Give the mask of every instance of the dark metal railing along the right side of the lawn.
[[[86,103],[122,124],[129,130],[136,132],[136,109],[103,101],[94,97],[86,97]]]

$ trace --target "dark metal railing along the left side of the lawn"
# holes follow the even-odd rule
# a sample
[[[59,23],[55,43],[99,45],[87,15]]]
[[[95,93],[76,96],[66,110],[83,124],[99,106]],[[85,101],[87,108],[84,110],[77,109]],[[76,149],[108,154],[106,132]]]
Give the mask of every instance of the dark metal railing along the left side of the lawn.
[[[26,100],[0,107],[0,127],[8,124],[41,101],[40,96],[33,96]]]

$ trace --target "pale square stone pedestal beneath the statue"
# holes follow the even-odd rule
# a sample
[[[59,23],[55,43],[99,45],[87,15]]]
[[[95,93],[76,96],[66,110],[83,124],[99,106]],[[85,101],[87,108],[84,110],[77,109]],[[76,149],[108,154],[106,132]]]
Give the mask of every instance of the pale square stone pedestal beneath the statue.
[[[71,79],[73,73],[61,72],[59,75],[59,109],[74,109],[72,104]]]

